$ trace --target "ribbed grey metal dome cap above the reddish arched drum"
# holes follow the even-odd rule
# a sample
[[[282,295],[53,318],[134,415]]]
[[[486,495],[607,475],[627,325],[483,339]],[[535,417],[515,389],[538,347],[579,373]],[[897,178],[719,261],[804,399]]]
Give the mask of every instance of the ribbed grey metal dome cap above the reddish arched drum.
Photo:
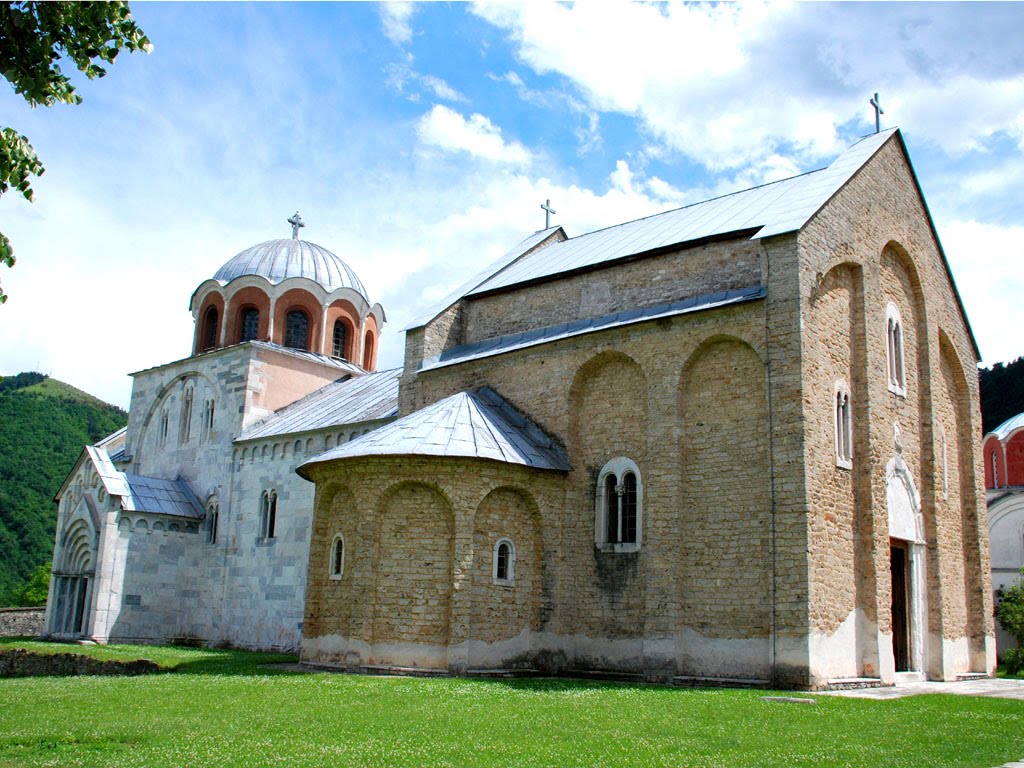
[[[315,243],[294,238],[247,248],[220,267],[213,279],[230,283],[244,274],[258,274],[273,284],[288,278],[308,278],[328,291],[351,288],[367,298],[367,289],[348,264]]]

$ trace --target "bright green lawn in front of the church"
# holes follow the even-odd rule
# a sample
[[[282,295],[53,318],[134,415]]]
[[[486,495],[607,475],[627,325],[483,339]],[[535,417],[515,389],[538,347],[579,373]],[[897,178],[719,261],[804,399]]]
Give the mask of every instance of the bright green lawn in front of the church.
[[[77,650],[37,643],[3,647]],[[289,674],[287,657],[108,646],[169,674],[0,680],[0,766],[971,766],[1024,757],[1024,702],[871,701],[566,680]],[[792,694],[791,694],[792,695]]]

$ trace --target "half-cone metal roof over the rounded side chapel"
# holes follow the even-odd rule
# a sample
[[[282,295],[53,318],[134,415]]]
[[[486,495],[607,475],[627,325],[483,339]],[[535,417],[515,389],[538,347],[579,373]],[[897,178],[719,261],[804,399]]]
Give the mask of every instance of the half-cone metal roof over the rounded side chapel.
[[[410,414],[299,467],[368,456],[490,459],[568,472],[564,449],[493,389],[459,392]]]

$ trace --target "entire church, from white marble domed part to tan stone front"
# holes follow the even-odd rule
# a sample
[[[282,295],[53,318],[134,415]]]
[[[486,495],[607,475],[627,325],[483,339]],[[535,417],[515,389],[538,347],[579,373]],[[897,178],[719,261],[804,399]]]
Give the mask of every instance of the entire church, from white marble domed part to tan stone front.
[[[51,634],[799,688],[994,667],[979,355],[898,130],[535,232],[396,371],[294,238],[191,309],[61,488]]]

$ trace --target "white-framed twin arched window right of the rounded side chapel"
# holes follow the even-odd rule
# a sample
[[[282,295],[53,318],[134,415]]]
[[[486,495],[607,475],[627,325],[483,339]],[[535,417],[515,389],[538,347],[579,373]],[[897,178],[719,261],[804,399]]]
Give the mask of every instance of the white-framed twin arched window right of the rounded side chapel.
[[[597,477],[594,542],[604,551],[640,549],[643,482],[640,469],[625,457],[612,459]]]

